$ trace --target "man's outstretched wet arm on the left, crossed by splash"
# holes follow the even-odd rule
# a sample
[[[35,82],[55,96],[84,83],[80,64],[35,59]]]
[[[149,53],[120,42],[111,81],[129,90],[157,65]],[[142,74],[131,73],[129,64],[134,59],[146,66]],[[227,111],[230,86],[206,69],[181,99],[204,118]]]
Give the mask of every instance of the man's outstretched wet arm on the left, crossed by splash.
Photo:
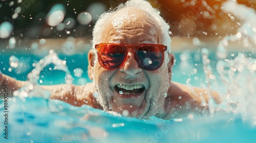
[[[8,86],[8,97],[13,97],[13,91],[27,85],[25,81],[15,80],[0,71],[0,98],[4,98],[4,87]],[[57,99],[67,102],[74,106],[82,106],[83,104],[90,105],[94,108],[102,108],[96,99],[93,97],[94,85],[88,83],[82,86],[73,84],[60,84],[40,86],[51,92],[50,99]]]

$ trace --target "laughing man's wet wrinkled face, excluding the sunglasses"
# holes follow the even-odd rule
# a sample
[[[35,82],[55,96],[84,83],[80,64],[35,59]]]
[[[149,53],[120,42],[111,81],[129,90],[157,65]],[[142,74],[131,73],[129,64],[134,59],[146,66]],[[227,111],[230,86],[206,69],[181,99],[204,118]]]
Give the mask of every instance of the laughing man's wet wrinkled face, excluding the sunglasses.
[[[122,9],[106,22],[100,42],[161,44],[160,35],[157,23],[146,12]],[[129,116],[152,116],[163,112],[164,95],[171,78],[166,61],[160,68],[148,71],[139,67],[134,53],[129,52],[122,67],[109,70],[101,67],[97,57],[95,59],[93,81],[104,110]]]

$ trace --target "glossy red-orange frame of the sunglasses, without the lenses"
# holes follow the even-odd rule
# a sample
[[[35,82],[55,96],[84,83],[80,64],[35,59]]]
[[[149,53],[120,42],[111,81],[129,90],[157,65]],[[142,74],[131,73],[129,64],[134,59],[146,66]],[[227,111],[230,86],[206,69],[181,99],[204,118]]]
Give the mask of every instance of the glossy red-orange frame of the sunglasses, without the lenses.
[[[101,47],[103,46],[103,45],[106,45],[106,44],[111,44],[111,45],[119,45],[119,46],[122,46],[122,47],[126,47],[126,48],[124,48],[124,50],[125,50],[125,55],[124,55],[124,59],[123,59],[123,61],[122,61],[122,63],[118,66],[118,67],[116,67],[116,68],[108,68],[108,67],[105,67],[100,61],[100,49],[101,49]],[[134,53],[134,55],[135,55],[135,59],[136,59],[136,61],[138,62],[138,60],[137,60],[137,54],[135,53],[138,49],[139,49],[139,47],[141,47],[141,46],[143,46],[143,45],[152,45],[152,46],[157,46],[157,47],[159,47],[159,49],[160,49],[160,53],[162,54],[162,59],[161,59],[161,64],[157,67],[157,68],[154,68],[154,69],[145,69],[144,67],[141,67],[139,64],[139,67],[141,67],[142,69],[145,69],[145,70],[156,70],[156,69],[158,69],[159,67],[161,67],[161,65],[163,64],[163,60],[164,60],[164,52],[167,50],[167,46],[166,45],[162,45],[162,44],[139,44],[139,45],[123,45],[123,44],[117,44],[117,43],[99,43],[99,44],[95,44],[95,49],[97,50],[97,54],[98,54],[98,61],[99,61],[99,64],[103,67],[103,68],[105,68],[105,69],[110,69],[110,70],[115,70],[115,69],[117,69],[117,68],[120,68],[121,66],[123,66],[124,65],[124,63],[125,63],[125,61],[126,61],[126,58],[127,58],[127,54],[128,54],[128,52],[133,52]]]

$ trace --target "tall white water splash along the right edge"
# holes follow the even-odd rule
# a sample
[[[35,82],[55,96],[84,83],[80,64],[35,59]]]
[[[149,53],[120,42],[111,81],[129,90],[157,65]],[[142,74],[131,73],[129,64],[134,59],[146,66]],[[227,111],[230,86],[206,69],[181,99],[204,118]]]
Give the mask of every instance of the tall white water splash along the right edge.
[[[234,59],[226,59],[226,48],[230,42],[241,42],[243,51],[247,50],[252,53],[251,55],[255,55],[256,12],[245,5],[237,4],[236,1],[224,2],[222,10],[232,21],[240,20],[237,22],[240,26],[237,33],[225,36],[217,49],[217,56],[221,60],[217,62],[216,67],[226,89],[222,104],[227,107],[227,112],[241,115],[244,122],[256,126],[256,59],[242,52]]]

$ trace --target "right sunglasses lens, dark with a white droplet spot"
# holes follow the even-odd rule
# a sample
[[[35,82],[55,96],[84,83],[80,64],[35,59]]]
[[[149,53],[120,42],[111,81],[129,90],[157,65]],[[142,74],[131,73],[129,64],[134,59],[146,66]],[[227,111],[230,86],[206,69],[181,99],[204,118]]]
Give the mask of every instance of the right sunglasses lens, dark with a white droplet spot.
[[[145,70],[156,70],[163,62],[163,53],[155,45],[142,45],[137,51],[137,62]]]

